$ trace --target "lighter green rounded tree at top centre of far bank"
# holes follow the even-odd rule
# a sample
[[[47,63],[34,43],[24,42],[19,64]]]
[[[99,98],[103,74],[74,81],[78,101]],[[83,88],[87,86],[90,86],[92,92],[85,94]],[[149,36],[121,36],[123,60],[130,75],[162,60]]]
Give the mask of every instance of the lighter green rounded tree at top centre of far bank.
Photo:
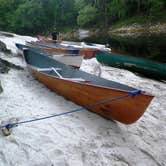
[[[97,9],[91,5],[87,5],[82,10],[80,10],[77,22],[80,26],[87,26],[95,23],[96,19]]]

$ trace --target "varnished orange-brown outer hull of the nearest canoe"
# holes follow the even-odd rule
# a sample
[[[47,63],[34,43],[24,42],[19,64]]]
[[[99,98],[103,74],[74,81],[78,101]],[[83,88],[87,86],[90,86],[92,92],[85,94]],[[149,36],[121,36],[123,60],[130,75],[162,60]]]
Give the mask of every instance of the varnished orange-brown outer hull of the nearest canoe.
[[[39,72],[34,69],[34,66],[30,63],[31,61],[31,59],[27,61],[28,67],[40,82],[65,98],[86,108],[89,105],[126,96],[130,93],[130,91],[124,89],[104,87],[93,83],[80,83]],[[103,81],[104,79],[101,80]],[[121,86],[123,87],[123,85]],[[89,110],[107,119],[113,119],[124,124],[131,124],[136,122],[144,114],[152,99],[153,96],[147,94],[138,94],[135,97],[129,95],[114,102],[90,107]]]

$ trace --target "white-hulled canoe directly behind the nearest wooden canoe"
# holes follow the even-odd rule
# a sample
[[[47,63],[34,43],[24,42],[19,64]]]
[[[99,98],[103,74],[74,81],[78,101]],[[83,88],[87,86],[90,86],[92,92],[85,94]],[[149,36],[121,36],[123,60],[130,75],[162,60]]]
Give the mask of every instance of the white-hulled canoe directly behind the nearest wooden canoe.
[[[39,48],[31,48],[29,46],[23,45],[16,43],[16,47],[18,48],[19,54],[23,54],[23,48],[28,48],[35,50],[36,52],[40,54],[44,54],[45,56],[49,56],[52,59],[57,60],[58,62],[64,63],[66,65],[73,66],[75,68],[80,68],[82,61],[83,61],[83,56],[74,56],[72,54],[60,54],[60,53],[52,53],[48,52]]]

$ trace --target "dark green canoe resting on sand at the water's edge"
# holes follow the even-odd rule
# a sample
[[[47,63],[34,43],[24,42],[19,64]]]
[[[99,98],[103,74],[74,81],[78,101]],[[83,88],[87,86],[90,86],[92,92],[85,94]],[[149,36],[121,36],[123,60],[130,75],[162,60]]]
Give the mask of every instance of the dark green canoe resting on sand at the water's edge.
[[[108,66],[127,69],[146,77],[166,80],[166,64],[127,55],[99,53],[97,60]]]

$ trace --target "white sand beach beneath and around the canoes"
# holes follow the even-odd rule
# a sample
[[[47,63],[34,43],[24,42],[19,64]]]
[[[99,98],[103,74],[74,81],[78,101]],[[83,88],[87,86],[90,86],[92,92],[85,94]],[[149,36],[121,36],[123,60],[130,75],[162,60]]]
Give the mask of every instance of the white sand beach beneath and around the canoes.
[[[15,42],[32,38],[0,37],[16,53]],[[20,57],[4,56],[25,65]],[[101,71],[100,71],[101,69]],[[81,70],[146,90],[156,97],[135,124],[126,126],[82,111],[20,125],[10,136],[0,132],[0,166],[165,166],[166,84],[131,72],[84,60]],[[19,121],[62,113],[78,105],[47,89],[28,71],[0,74],[0,122]]]

